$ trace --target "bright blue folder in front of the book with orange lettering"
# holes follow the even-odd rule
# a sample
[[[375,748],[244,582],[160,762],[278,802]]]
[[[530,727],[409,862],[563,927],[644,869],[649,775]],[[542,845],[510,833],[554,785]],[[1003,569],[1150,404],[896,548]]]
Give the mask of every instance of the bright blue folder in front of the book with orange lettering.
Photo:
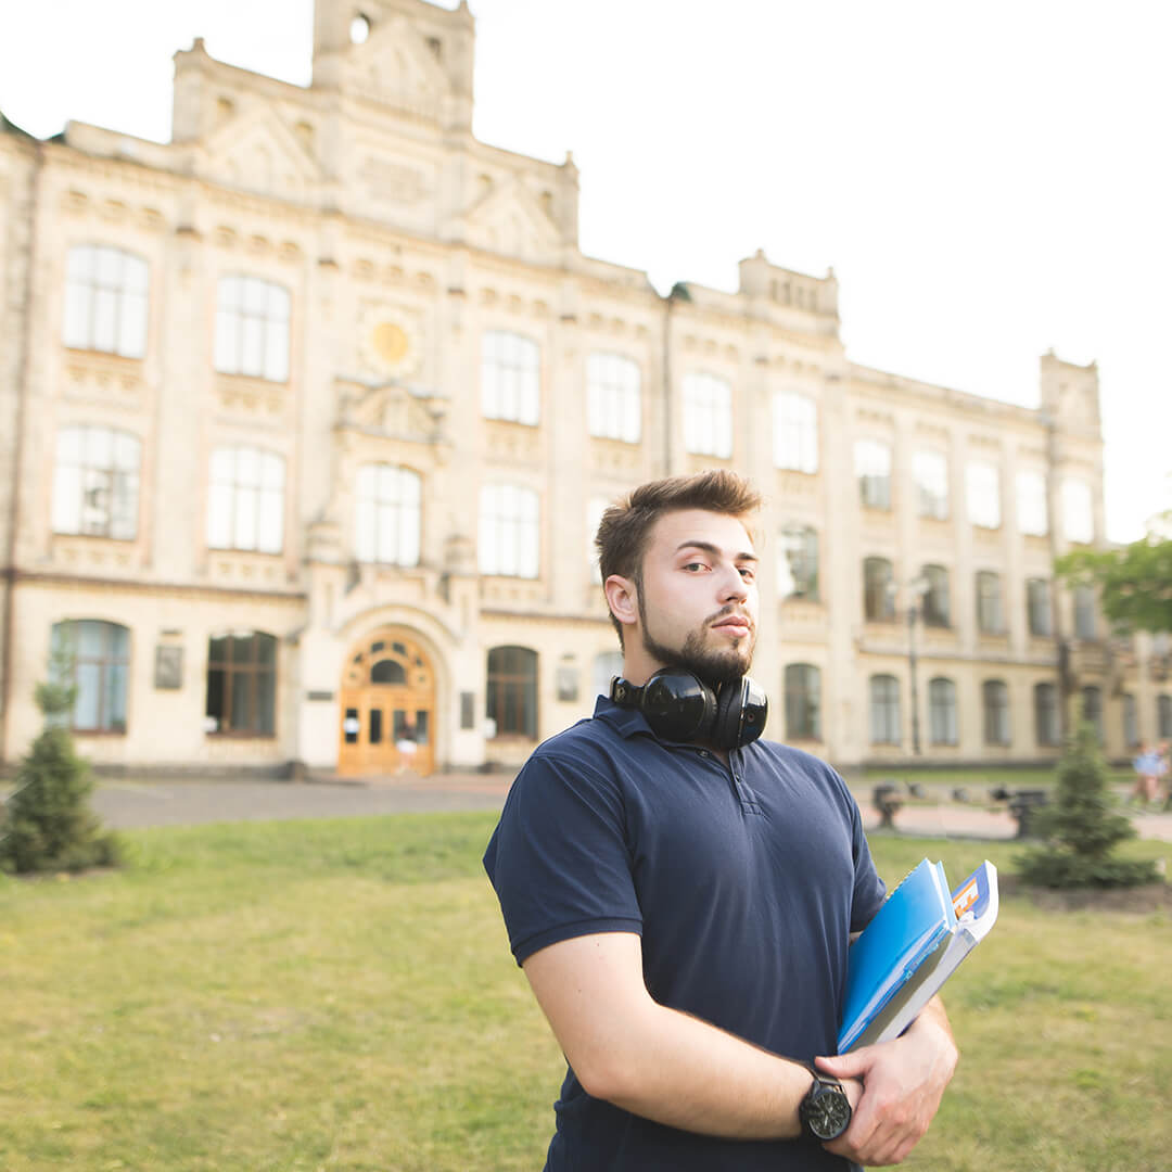
[[[838,1051],[845,1054],[956,928],[940,863],[925,859],[891,893],[847,954]]]

